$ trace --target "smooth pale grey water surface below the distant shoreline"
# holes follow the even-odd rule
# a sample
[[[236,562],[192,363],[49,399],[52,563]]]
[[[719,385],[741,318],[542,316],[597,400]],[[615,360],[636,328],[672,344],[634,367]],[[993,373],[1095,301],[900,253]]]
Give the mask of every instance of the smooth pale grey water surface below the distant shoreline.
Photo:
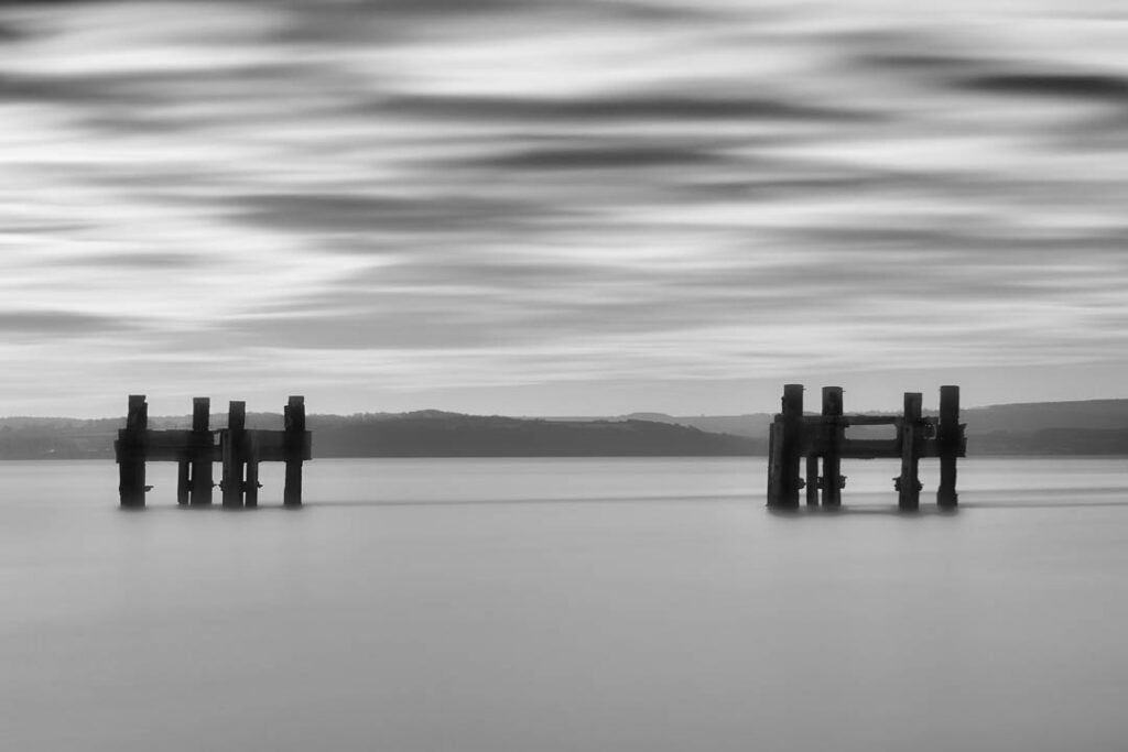
[[[770,514],[761,466],[316,461],[224,513],[0,463],[3,747],[1128,746],[1128,460],[970,460],[916,516],[888,462]]]

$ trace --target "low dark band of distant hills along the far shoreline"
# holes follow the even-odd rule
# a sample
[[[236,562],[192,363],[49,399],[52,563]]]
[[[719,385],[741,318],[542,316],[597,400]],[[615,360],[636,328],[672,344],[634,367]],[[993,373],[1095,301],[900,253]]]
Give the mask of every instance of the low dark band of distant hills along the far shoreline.
[[[222,427],[226,415],[212,416]],[[310,415],[315,457],[732,457],[767,452],[773,416],[511,418],[440,410]],[[1128,455],[1128,399],[997,405],[963,410],[968,452]],[[111,459],[124,418],[0,418],[0,459]],[[153,428],[187,427],[191,417],[152,417]],[[281,428],[271,413],[253,428]],[[872,435],[890,428],[852,430]]]

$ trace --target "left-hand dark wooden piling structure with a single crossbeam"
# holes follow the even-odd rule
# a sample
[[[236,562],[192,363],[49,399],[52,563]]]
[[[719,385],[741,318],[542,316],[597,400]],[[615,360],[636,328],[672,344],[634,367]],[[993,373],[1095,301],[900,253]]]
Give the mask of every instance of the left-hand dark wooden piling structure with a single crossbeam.
[[[212,462],[222,463],[219,484],[223,506],[258,505],[258,463],[285,462],[287,506],[301,505],[301,470],[312,459],[312,436],[306,431],[306,399],[291,397],[282,431],[248,430],[246,404],[228,406],[227,428],[211,430],[211,400],[196,397],[191,431],[150,431],[144,395],[131,395],[125,427],[117,433],[118,493],[122,506],[144,506],[146,462],[177,462],[176,501],[179,504],[212,503]]]

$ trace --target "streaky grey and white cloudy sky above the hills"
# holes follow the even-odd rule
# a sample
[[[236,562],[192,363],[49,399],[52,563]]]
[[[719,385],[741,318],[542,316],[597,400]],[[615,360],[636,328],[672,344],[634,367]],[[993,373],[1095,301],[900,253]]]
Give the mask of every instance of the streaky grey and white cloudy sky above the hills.
[[[1128,397],[1120,0],[6,2],[0,47],[2,415]]]

